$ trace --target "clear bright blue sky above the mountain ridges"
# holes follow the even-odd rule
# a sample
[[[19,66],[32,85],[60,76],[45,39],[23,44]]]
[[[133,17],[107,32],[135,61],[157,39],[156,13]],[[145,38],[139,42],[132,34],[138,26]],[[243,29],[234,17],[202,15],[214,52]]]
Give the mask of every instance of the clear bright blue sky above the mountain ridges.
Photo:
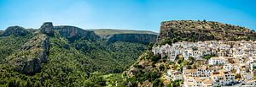
[[[0,30],[44,21],[83,29],[159,31],[165,20],[206,19],[256,30],[255,0],[0,0]]]

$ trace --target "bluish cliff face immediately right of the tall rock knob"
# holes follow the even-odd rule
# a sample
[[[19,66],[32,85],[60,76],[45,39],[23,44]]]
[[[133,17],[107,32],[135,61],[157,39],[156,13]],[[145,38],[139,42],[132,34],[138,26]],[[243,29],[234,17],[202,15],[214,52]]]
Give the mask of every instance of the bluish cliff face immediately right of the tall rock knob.
[[[96,35],[93,31],[83,30],[74,26],[55,26],[54,29],[69,41],[75,41],[78,39],[96,41],[100,38],[100,36]]]

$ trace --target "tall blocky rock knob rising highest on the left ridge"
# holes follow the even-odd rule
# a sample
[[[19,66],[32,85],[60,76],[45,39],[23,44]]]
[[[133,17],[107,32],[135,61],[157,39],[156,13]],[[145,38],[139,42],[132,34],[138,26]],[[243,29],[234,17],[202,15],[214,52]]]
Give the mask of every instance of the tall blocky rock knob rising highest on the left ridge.
[[[44,22],[40,27],[40,32],[46,35],[54,35],[54,26],[51,22]]]

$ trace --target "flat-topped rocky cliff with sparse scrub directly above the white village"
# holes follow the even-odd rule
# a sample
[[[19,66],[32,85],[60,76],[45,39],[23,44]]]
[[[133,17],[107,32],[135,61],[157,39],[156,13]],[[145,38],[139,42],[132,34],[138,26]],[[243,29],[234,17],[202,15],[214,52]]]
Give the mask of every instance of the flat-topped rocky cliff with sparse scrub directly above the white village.
[[[183,41],[256,40],[256,33],[245,27],[212,21],[172,20],[160,26],[159,40],[177,38]]]

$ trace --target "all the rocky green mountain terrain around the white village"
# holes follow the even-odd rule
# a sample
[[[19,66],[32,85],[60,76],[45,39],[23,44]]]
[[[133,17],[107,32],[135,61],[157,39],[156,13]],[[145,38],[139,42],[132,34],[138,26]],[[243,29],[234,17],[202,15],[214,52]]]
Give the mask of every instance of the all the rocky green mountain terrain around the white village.
[[[255,37],[254,30],[206,20],[164,21],[159,35],[83,30],[50,22],[38,30],[9,27],[0,36],[0,86],[167,86],[161,78],[171,63],[154,56],[152,46],[177,41],[255,41]],[[172,64],[180,65],[182,59],[178,60]]]

